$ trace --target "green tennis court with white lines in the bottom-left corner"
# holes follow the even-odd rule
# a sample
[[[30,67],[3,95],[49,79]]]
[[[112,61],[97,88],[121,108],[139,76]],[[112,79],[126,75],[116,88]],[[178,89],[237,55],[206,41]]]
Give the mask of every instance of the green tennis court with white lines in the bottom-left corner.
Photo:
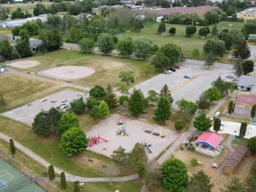
[[[15,170],[15,168],[6,163],[3,159],[0,159],[0,191],[45,192],[44,189],[40,188],[35,182],[32,182],[28,177]]]

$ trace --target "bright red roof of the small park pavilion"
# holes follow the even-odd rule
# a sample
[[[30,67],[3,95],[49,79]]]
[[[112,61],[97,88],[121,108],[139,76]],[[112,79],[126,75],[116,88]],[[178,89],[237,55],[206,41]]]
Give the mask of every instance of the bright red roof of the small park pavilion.
[[[216,148],[222,140],[223,138],[218,136],[215,132],[203,132],[195,142],[205,142]]]

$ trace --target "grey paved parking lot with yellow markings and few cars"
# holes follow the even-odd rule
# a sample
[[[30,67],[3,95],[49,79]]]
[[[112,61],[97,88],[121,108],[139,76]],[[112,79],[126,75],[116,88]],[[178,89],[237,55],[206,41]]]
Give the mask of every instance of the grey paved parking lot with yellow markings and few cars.
[[[189,79],[184,78],[184,75],[190,77],[198,75],[199,77],[189,81]],[[177,69],[176,72],[172,72],[172,74],[159,74],[152,79],[148,79],[147,81],[134,86],[134,88],[140,89],[143,94],[147,96],[148,90],[161,90],[166,83],[172,90],[176,88],[176,91],[173,93],[173,99],[175,100],[173,102],[173,108],[177,108],[177,104],[175,104],[177,100],[184,98],[195,102],[199,95],[211,86],[212,81],[216,80],[218,76],[225,78],[226,75],[230,75],[230,73],[184,66]],[[188,81],[188,84],[184,85],[186,81]],[[181,84],[183,84],[183,86],[179,89]]]

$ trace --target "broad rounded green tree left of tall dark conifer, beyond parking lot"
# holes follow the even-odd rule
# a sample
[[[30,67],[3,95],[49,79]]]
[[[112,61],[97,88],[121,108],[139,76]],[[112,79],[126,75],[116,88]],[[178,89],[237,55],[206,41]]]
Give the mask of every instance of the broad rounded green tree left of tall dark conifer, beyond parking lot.
[[[220,56],[222,58],[226,52],[225,42],[218,38],[207,40],[204,45],[204,52],[205,54],[212,52],[214,56]]]

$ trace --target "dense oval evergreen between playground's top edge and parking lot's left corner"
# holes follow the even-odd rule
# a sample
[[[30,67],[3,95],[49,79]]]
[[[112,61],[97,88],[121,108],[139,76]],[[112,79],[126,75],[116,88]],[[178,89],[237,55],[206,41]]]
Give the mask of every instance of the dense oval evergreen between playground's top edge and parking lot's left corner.
[[[145,108],[145,100],[143,93],[141,90],[133,90],[129,100],[129,111],[132,116],[138,116],[143,113],[143,109]]]

